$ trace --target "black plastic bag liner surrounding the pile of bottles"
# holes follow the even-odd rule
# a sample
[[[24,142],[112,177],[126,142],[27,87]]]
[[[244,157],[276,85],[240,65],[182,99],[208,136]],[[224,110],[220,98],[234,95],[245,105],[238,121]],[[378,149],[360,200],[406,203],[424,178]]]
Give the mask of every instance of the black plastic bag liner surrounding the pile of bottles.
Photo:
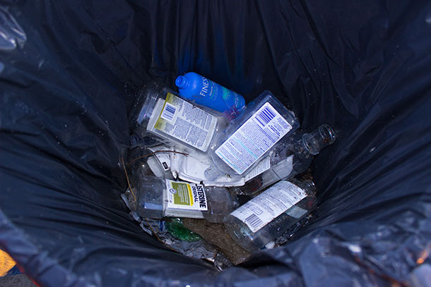
[[[430,51],[430,1],[1,1],[0,248],[41,286],[407,286],[431,263]],[[338,133],[314,220],[223,273],[119,197],[138,88],[187,71]]]

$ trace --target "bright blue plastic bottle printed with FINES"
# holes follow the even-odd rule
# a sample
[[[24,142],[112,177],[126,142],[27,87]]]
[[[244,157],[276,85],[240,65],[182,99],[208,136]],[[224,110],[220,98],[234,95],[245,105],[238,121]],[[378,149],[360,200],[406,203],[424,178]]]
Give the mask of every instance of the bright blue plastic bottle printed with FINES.
[[[175,85],[184,99],[220,111],[226,118],[236,118],[244,111],[245,99],[242,95],[194,72],[179,75]]]

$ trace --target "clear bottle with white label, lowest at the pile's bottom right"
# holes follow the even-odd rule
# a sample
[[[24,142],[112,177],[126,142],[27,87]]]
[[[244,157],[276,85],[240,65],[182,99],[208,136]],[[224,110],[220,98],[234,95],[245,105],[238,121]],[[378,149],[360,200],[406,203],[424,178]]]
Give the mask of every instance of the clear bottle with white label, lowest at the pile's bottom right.
[[[312,181],[279,181],[230,213],[223,223],[236,243],[254,252],[281,236],[316,206]]]

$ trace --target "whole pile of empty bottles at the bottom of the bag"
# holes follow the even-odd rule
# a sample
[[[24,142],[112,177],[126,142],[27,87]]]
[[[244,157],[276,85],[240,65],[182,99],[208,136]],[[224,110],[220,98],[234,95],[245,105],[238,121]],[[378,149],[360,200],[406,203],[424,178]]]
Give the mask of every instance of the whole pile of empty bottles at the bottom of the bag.
[[[254,252],[312,212],[314,183],[294,177],[333,143],[331,127],[300,132],[293,111],[268,91],[246,105],[196,73],[175,84],[178,93],[146,85],[131,111],[127,166],[139,216],[223,223]]]

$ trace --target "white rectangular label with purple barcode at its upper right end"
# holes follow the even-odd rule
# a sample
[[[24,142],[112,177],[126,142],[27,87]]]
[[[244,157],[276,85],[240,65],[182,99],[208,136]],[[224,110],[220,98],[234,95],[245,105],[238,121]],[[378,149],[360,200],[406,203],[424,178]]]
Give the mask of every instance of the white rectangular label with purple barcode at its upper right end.
[[[291,129],[290,123],[267,102],[215,154],[242,174]]]

